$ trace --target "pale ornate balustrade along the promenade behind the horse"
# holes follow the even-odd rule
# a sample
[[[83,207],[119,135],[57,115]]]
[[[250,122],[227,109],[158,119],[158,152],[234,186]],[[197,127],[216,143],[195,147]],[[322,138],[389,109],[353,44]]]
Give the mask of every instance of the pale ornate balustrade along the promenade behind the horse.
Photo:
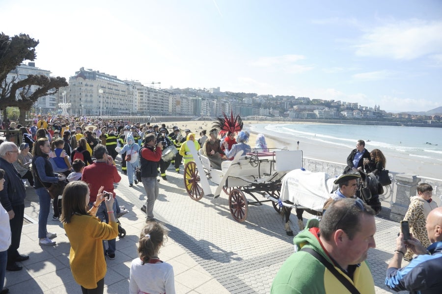
[[[344,170],[345,164],[316,160],[311,158],[303,159],[303,166],[312,172],[326,172],[331,176],[337,176]],[[404,219],[405,213],[410,205],[410,197],[416,195],[416,187],[420,183],[427,183],[433,187],[433,200],[438,206],[442,205],[442,180],[406,173],[389,171],[391,184],[384,186],[384,193],[380,195],[382,203],[381,216],[393,221]]]

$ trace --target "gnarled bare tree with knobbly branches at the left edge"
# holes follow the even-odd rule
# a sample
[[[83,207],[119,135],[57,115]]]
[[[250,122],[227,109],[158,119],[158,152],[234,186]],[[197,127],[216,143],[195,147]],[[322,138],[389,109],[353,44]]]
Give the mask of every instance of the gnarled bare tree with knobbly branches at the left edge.
[[[4,119],[7,117],[6,107],[15,106],[19,107],[19,121],[24,124],[26,111],[30,110],[38,98],[53,95],[60,87],[68,86],[65,78],[43,75],[28,75],[28,78],[19,80],[17,74],[12,80],[6,80],[7,75],[16,71],[17,66],[24,60],[35,60],[35,47],[38,43],[39,41],[27,34],[15,35],[12,38],[4,33],[0,34],[0,111],[3,111]],[[29,95],[32,85],[39,88]]]

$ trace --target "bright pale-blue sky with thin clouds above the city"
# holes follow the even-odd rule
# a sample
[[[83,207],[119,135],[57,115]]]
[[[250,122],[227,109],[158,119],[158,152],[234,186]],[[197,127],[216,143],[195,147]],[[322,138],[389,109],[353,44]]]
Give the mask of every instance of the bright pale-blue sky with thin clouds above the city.
[[[0,30],[67,80],[442,106],[441,0],[2,0]]]

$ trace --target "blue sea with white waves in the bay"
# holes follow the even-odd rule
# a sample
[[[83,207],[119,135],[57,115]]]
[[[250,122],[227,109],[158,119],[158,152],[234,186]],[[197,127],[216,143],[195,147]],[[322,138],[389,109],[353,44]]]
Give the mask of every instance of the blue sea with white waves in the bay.
[[[361,126],[341,124],[254,124],[254,133],[281,137],[289,149],[297,141],[309,139],[328,146],[356,148],[356,141],[365,141],[367,149],[380,149],[403,157],[436,164],[442,163],[442,128]]]

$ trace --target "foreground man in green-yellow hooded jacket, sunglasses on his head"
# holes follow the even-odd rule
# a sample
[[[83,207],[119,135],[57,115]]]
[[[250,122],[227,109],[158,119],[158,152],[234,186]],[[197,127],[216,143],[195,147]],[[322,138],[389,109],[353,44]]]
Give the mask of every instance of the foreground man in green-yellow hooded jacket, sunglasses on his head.
[[[368,249],[376,247],[374,215],[359,198],[344,198],[333,202],[320,222],[310,219],[293,240],[300,250],[276,273],[271,293],[374,294],[365,261]]]

